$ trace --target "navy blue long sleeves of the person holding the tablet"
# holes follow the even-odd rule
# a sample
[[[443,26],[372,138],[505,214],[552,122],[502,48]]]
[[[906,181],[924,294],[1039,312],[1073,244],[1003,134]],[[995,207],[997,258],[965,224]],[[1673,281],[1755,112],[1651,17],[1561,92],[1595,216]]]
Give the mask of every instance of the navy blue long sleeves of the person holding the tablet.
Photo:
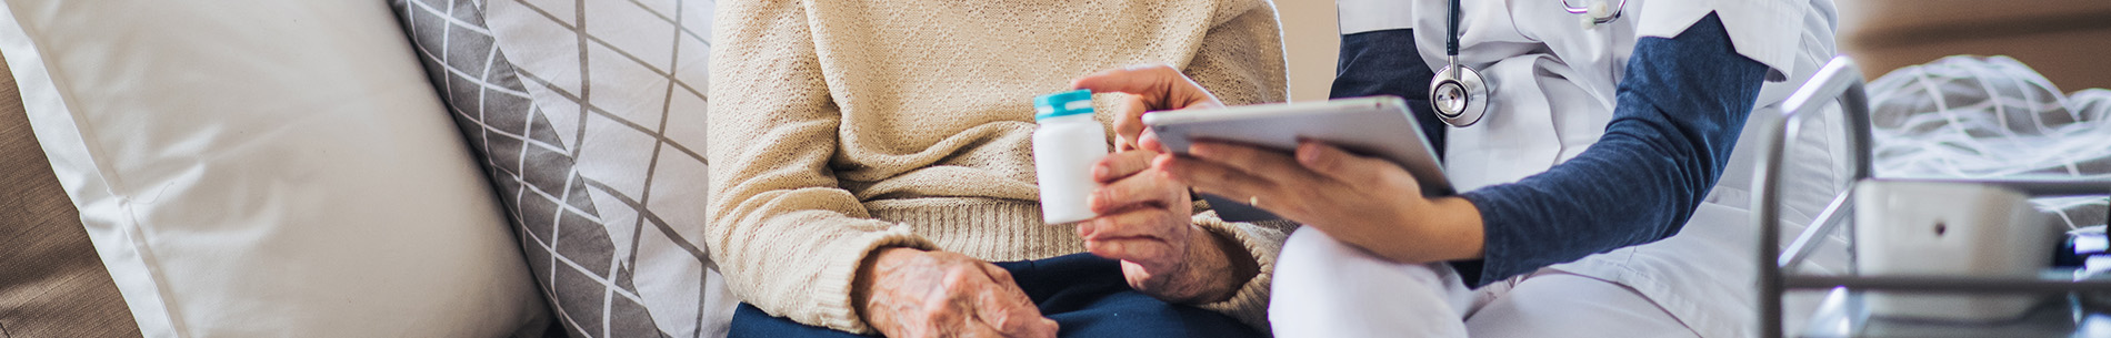
[[[1378,31],[1372,31],[1378,34]],[[1404,34],[1404,29],[1402,29]],[[1364,34],[1355,34],[1364,36]],[[1353,76],[1353,36],[1343,38],[1343,78]],[[1412,50],[1412,38],[1389,48]],[[1362,55],[1362,52],[1357,52]],[[1404,55],[1416,63],[1421,57]],[[1368,63],[1368,61],[1359,61]],[[1642,38],[1628,61],[1604,136],[1581,155],[1518,183],[1463,193],[1480,208],[1484,250],[1480,260],[1452,262],[1469,286],[1484,286],[1541,267],[1598,252],[1672,237],[1699,208],[1729,162],[1737,132],[1758,99],[1767,67],[1737,55],[1716,15],[1676,38]],[[1419,76],[1416,71],[1391,71]],[[1431,76],[1391,78],[1393,86],[1343,86],[1334,97],[1400,94],[1427,103]],[[1501,88],[1497,88],[1501,90]],[[1427,109],[1414,113],[1425,128],[1442,128]],[[1442,139],[1440,132],[1431,132]]]

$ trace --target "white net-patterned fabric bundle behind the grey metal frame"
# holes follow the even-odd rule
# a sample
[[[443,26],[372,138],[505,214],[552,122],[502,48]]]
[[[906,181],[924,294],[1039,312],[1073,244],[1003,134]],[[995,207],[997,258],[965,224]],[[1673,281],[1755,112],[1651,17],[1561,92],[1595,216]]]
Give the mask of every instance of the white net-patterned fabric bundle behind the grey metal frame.
[[[2111,178],[2111,90],[2060,94],[2016,59],[1946,57],[1868,94],[1877,176]],[[2105,225],[2105,197],[2033,204],[2067,229]]]

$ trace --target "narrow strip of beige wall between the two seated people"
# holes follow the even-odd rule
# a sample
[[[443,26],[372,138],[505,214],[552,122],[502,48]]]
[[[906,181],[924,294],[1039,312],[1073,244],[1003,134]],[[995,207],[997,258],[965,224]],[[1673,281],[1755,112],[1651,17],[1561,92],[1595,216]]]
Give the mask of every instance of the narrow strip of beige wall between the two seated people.
[[[1275,10],[1283,19],[1283,52],[1290,57],[1290,101],[1324,101],[1340,50],[1334,0],[1275,0]]]

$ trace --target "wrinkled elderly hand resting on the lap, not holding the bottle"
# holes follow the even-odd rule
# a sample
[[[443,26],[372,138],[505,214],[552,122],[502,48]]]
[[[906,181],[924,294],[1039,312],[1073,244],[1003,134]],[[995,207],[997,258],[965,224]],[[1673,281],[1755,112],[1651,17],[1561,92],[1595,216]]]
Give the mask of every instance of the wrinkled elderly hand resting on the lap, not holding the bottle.
[[[1011,273],[954,252],[885,248],[857,271],[851,298],[893,338],[1053,338]]]

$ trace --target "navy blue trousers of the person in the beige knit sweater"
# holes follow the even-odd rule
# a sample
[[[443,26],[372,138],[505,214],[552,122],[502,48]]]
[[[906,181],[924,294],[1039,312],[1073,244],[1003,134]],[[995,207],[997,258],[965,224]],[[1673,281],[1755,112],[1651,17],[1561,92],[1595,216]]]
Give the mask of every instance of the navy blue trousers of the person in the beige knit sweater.
[[[1062,325],[1064,338],[1087,336],[1191,336],[1262,338],[1260,332],[1220,313],[1167,304],[1129,290],[1121,262],[1091,254],[1045,260],[996,262],[1011,271],[1020,290],[1041,307],[1041,315]],[[747,302],[733,313],[733,338],[861,338],[783,317],[771,317]]]

